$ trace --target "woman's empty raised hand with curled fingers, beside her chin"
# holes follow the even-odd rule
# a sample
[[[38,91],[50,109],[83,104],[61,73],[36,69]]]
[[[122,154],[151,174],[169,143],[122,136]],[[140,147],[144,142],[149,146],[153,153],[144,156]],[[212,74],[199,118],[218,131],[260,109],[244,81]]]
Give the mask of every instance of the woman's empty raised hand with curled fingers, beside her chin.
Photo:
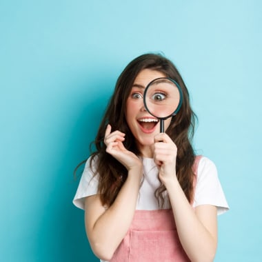
[[[105,129],[105,151],[124,165],[128,171],[133,169],[141,170],[142,161],[133,152],[127,150],[123,145],[125,134],[118,130],[114,132],[111,132],[111,130],[111,125],[108,124]]]

